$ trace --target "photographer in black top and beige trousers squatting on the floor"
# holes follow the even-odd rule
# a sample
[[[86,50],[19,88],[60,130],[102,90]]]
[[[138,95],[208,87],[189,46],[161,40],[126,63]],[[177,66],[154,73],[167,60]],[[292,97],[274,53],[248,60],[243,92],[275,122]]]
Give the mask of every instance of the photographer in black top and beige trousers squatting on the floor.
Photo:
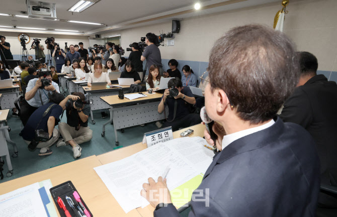
[[[70,100],[65,104],[67,123],[61,122],[58,130],[63,139],[60,139],[56,147],[71,145],[74,158],[81,155],[82,148],[79,144],[89,142],[93,138],[93,131],[88,127],[90,116],[90,105],[85,104],[85,95],[81,92],[74,92],[78,96],[76,101]],[[78,107],[77,107],[77,106]]]

